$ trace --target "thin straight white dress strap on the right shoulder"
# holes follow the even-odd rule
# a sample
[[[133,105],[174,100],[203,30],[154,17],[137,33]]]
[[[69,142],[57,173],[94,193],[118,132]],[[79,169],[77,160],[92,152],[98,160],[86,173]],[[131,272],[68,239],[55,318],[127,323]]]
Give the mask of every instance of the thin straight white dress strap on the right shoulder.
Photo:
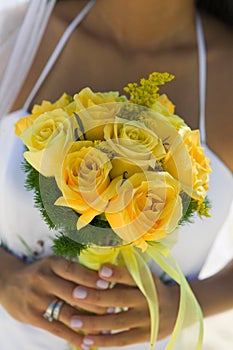
[[[205,110],[206,110],[206,44],[204,38],[204,30],[201,17],[196,15],[197,28],[197,45],[199,57],[199,129],[201,142],[206,143],[206,125],[205,125]]]

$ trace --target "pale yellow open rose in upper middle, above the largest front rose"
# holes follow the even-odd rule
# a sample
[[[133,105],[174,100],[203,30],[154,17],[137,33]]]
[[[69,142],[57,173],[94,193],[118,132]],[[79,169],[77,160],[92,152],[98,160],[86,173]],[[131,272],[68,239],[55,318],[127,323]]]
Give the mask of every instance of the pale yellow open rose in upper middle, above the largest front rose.
[[[166,155],[162,141],[142,123],[115,118],[104,128],[105,142],[99,147],[112,152],[111,177],[129,177],[135,172],[155,168]]]

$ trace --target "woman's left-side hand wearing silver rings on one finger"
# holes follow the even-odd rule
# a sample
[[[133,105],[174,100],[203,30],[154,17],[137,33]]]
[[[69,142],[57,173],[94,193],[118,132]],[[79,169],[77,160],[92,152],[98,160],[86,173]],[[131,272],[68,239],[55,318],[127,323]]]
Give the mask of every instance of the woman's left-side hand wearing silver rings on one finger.
[[[106,308],[79,300],[83,288],[108,288],[97,272],[60,257],[49,257],[25,264],[4,251],[7,273],[1,275],[1,304],[16,320],[31,324],[80,346],[83,336],[71,327],[71,319],[81,314],[76,307],[103,314]],[[81,293],[81,294],[80,294]],[[43,314],[56,299],[64,300],[59,321],[48,322]],[[76,323],[77,324],[77,323]],[[94,332],[95,330],[92,330]]]

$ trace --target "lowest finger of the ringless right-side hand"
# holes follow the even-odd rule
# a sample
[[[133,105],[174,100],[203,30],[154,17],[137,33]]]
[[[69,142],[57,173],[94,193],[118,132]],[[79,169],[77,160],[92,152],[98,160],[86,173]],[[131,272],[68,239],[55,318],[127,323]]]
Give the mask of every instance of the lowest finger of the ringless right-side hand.
[[[147,342],[150,339],[149,328],[134,328],[128,331],[105,335],[87,335],[84,337],[82,349],[90,346],[110,348]]]

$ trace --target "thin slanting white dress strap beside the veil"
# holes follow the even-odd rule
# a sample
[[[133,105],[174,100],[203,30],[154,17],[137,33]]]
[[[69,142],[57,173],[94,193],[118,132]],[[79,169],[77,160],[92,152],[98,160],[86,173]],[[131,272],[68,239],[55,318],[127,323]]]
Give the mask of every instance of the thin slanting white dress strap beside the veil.
[[[40,89],[41,85],[43,84],[44,80],[46,79],[47,75],[51,71],[53,65],[55,64],[57,58],[59,57],[61,51],[63,50],[65,44],[67,43],[68,39],[70,38],[72,32],[74,29],[82,22],[84,17],[87,15],[89,10],[94,5],[95,0],[90,0],[86,6],[81,10],[81,12],[75,17],[75,19],[69,24],[65,32],[63,33],[62,37],[60,38],[55,50],[53,51],[52,55],[50,56],[48,62],[46,63],[43,71],[41,72],[41,75],[39,76],[39,79],[37,80],[35,86],[33,87],[30,95],[28,96],[25,104],[24,109],[28,110],[29,106],[35,97],[36,93]]]

